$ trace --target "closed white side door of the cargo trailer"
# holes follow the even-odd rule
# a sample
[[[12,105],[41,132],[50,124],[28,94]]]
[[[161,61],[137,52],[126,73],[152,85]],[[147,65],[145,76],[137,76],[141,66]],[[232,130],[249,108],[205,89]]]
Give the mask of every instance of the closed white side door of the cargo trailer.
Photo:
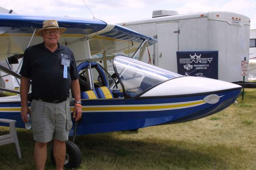
[[[157,66],[177,72],[178,22],[157,24]]]

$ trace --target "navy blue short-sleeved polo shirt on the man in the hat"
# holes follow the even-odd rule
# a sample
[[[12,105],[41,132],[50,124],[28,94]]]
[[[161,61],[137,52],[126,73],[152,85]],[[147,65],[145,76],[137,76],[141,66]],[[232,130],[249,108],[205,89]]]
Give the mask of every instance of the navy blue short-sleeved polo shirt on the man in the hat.
[[[70,60],[67,78],[63,77],[62,58]],[[32,97],[52,101],[66,99],[71,80],[79,77],[72,51],[59,43],[54,53],[44,43],[28,47],[20,74],[32,80]]]

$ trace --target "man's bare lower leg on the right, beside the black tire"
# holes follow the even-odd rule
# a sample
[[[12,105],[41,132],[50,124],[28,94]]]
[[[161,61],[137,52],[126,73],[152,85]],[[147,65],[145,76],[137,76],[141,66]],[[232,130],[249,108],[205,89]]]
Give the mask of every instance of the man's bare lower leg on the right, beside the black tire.
[[[56,162],[56,170],[63,170],[64,160],[66,156],[65,141],[53,140],[53,155]]]

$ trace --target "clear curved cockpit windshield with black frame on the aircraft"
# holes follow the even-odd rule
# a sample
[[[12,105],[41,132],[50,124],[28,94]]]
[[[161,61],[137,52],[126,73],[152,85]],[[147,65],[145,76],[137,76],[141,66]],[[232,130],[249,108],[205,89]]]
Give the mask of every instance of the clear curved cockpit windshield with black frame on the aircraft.
[[[182,75],[124,56],[114,58],[114,69],[126,96],[134,97],[166,80]]]

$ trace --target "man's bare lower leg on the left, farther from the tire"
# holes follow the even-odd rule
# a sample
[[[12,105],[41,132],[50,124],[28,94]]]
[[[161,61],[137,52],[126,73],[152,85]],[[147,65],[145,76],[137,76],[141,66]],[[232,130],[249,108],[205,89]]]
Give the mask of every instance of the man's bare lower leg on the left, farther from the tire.
[[[47,143],[37,142],[34,147],[34,159],[36,162],[37,170],[44,170],[45,162],[47,158]]]

